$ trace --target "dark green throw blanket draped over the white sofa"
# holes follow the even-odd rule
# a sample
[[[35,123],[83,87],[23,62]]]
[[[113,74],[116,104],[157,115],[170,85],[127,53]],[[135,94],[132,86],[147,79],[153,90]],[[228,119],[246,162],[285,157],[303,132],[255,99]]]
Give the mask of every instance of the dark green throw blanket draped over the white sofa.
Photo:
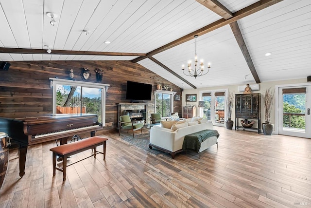
[[[186,135],[183,144],[183,151],[186,151],[186,149],[192,149],[195,152],[199,152],[201,143],[211,136],[217,136],[218,138],[219,133],[217,130],[203,130]]]

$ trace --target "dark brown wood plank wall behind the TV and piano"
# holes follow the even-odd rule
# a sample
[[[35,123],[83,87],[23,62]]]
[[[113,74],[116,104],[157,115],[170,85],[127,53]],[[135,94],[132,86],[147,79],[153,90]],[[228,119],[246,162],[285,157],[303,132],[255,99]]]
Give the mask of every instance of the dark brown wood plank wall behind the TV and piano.
[[[0,71],[0,117],[19,118],[52,113],[52,88],[50,77],[70,79],[73,69],[74,79],[83,81],[80,72],[90,69],[91,76],[86,82],[97,82],[95,69],[103,69],[101,83],[109,84],[106,94],[106,127],[104,131],[115,130],[118,123],[117,105],[129,102],[125,99],[127,81],[153,85],[167,84],[181,95],[181,88],[166,79],[130,61],[11,61],[8,71]],[[148,114],[154,113],[154,94],[148,101]],[[174,112],[182,113],[181,101],[174,101]]]

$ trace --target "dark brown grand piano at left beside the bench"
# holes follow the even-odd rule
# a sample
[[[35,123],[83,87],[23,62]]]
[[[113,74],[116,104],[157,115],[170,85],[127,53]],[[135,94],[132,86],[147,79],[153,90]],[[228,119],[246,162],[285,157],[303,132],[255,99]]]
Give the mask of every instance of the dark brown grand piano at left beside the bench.
[[[25,175],[27,146],[60,139],[66,144],[75,134],[90,132],[95,136],[103,126],[98,122],[97,114],[51,114],[38,117],[3,118],[0,117],[0,132],[5,132],[19,145],[19,176]]]

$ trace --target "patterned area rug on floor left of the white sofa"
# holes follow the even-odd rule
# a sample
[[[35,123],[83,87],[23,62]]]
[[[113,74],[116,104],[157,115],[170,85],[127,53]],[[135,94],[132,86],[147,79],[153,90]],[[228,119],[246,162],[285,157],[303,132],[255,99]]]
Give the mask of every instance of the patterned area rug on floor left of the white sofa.
[[[163,151],[159,151],[156,149],[149,149],[149,137],[150,133],[136,134],[135,138],[133,136],[126,136],[121,138],[122,140],[132,144],[133,146],[142,149],[143,151],[149,151],[154,153],[155,155],[164,153]]]

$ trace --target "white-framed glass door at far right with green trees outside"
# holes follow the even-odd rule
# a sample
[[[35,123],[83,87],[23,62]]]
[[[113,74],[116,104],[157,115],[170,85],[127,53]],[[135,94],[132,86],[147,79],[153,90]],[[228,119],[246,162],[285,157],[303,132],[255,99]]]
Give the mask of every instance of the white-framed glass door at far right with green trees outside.
[[[311,86],[278,88],[278,133],[311,138]]]

